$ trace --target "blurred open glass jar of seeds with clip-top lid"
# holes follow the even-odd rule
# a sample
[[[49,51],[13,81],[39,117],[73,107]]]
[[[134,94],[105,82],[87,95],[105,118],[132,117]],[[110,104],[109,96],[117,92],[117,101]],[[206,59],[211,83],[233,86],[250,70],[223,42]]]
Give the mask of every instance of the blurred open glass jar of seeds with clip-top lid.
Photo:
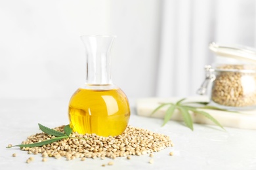
[[[205,81],[198,93],[203,95],[211,83],[211,105],[229,110],[256,108],[256,50],[242,46],[219,46],[214,42],[210,50],[219,59],[211,67],[205,66]]]

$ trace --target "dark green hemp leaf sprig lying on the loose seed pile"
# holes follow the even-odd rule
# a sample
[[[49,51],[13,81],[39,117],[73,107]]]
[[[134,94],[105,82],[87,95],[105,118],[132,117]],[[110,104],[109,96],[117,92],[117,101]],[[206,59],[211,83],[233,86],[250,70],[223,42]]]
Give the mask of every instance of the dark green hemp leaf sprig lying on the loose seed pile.
[[[17,144],[17,145],[14,145],[14,146],[18,146],[20,148],[23,148],[23,147],[37,147],[37,146],[43,146],[45,144],[51,144],[51,143],[54,143],[56,141],[60,141],[61,139],[66,139],[66,138],[85,139],[85,138],[70,137],[70,134],[72,133],[73,130],[70,127],[69,124],[64,126],[64,133],[62,133],[60,131],[56,131],[56,130],[51,129],[49,127],[43,126],[41,124],[38,124],[38,126],[41,129],[41,131],[43,131],[44,133],[47,133],[48,135],[53,135],[54,138],[42,141],[40,143]],[[87,139],[85,139],[85,140],[87,140]],[[7,146],[7,148],[12,148],[14,146]]]

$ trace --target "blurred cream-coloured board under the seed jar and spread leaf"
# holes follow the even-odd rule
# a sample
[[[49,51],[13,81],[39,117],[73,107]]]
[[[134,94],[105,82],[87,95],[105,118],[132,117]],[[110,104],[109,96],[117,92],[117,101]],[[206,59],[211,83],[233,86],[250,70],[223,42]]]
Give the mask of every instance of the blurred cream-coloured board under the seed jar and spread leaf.
[[[176,102],[181,97],[173,97],[168,99],[163,98],[143,98],[137,99],[137,114],[139,116],[151,116],[150,114],[156,107],[160,105],[160,103],[167,102]],[[198,96],[198,97],[188,97],[187,101],[207,101],[206,97]],[[163,107],[158,110],[155,114],[152,115],[154,118],[164,118],[165,110],[167,107]],[[205,112],[208,112],[213,116],[222,126],[226,127],[236,127],[241,129],[256,129],[256,110],[246,110],[236,112],[226,112],[221,110],[211,110],[211,109],[201,109]],[[205,118],[200,114],[194,114],[190,112],[193,122],[199,124],[211,124],[214,125],[211,120]],[[182,120],[181,114],[179,114],[179,110],[175,110],[171,120]]]

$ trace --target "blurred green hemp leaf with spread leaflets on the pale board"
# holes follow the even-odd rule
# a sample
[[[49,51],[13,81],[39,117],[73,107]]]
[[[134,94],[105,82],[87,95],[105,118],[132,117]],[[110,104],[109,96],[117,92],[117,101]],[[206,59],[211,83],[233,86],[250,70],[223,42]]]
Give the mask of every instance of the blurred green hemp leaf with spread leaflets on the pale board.
[[[209,104],[208,102],[184,102],[185,99],[186,98],[183,98],[183,99],[177,101],[176,103],[161,103],[160,106],[158,106],[156,109],[153,110],[152,114],[154,114],[156,111],[158,111],[162,107],[169,106],[167,108],[167,110],[165,111],[165,117],[163,119],[162,126],[165,126],[165,124],[169,120],[171,120],[171,116],[173,116],[173,113],[175,112],[175,110],[178,109],[182,115],[185,125],[188,128],[190,128],[191,130],[193,130],[194,128],[193,128],[193,120],[192,120],[192,117],[189,112],[194,112],[196,114],[202,114],[203,116],[205,116],[205,118],[208,118],[213,123],[215,123],[217,126],[224,129],[224,127],[221,126],[221,124],[215,118],[213,118],[213,116],[211,116],[211,114],[209,114],[205,111],[202,111],[202,110],[198,110],[198,109],[212,109],[212,110],[224,110],[224,111],[228,111],[228,110],[220,109],[218,107],[213,107],[213,106],[207,106],[207,104]],[[199,105],[204,105],[204,106],[203,107],[194,107],[194,106],[191,106],[190,104],[199,104]],[[229,111],[229,112],[232,112],[232,111]]]

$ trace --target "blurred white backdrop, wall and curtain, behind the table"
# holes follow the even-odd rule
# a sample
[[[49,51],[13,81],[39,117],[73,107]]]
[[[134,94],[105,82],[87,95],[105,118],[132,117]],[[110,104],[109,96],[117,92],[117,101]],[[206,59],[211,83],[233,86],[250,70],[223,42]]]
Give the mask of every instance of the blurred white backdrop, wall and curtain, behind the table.
[[[256,46],[253,0],[0,1],[0,98],[69,99],[85,80],[80,35],[112,34],[128,97],[196,95],[209,42]]]

